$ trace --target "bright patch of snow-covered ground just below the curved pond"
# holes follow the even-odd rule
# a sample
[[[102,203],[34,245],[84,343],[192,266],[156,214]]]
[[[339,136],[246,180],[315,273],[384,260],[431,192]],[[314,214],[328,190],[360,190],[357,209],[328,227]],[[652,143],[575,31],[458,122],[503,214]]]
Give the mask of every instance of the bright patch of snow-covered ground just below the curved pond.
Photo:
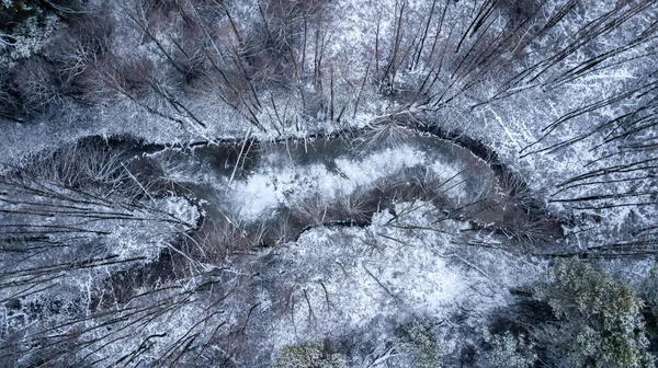
[[[282,249],[285,268],[272,272],[293,287],[296,302],[274,321],[271,343],[280,348],[340,337],[374,320],[408,314],[450,318],[461,308],[479,318],[510,301],[509,287],[541,275],[541,266],[504,251],[465,250],[458,230],[467,225],[433,226],[422,215],[427,206],[393,222],[389,212],[377,214],[364,229],[317,228]]]

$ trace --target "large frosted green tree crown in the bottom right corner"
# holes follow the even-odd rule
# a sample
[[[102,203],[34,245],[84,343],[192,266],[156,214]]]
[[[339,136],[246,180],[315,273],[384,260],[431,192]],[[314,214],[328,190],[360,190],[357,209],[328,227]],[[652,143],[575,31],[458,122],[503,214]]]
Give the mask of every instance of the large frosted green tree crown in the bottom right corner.
[[[556,367],[653,367],[636,291],[589,264],[558,263],[534,297],[555,322],[534,332]]]

